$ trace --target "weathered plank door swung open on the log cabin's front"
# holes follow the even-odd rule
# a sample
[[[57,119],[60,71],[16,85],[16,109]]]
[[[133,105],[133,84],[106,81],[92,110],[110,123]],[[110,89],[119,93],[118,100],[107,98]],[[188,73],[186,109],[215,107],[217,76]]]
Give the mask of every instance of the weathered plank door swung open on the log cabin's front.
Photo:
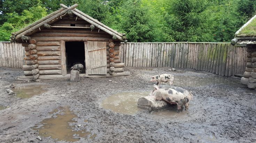
[[[107,74],[107,43],[98,41],[84,42],[85,73]]]

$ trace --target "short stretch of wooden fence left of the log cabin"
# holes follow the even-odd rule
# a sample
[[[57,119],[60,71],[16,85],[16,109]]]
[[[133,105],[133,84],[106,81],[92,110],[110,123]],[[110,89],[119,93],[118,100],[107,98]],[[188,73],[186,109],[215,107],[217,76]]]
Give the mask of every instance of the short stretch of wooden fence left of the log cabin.
[[[24,47],[19,43],[0,42],[0,67],[22,68]]]

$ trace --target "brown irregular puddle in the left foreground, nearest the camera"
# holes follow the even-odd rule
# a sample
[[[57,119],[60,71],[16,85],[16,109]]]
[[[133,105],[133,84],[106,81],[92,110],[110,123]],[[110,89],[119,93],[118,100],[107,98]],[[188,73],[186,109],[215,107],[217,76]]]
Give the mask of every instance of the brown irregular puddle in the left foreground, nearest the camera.
[[[44,119],[40,124],[33,127],[39,132],[39,136],[51,137],[56,141],[79,141],[80,137],[95,138],[96,134],[87,132],[81,127],[77,126],[77,122],[73,120],[77,115],[69,110],[69,107],[59,107],[52,112],[51,118]]]

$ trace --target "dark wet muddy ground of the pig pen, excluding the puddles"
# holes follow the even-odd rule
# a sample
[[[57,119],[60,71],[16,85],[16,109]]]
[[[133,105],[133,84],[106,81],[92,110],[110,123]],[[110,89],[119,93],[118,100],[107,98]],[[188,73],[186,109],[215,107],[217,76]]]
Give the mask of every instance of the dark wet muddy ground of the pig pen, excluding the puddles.
[[[101,101],[112,94],[129,91],[150,91],[151,75],[172,73],[215,77],[211,73],[185,70],[172,72],[169,68],[125,68],[131,75],[114,78],[82,78],[80,82],[48,80],[29,84],[46,83],[48,91],[28,99],[8,95],[5,91],[22,75],[21,69],[0,68],[0,142],[65,142],[50,137],[36,139],[38,132],[32,127],[60,106],[69,106],[78,117],[78,124],[96,134],[95,138],[80,138],[77,142],[256,142],[256,93],[241,86],[210,84],[200,87],[183,87],[193,91],[194,99],[188,111],[177,116],[154,116],[154,112],[142,110],[134,116],[114,113],[101,107]],[[183,69],[184,70],[184,69]],[[219,76],[218,76],[219,77]],[[109,81],[113,80],[113,81]],[[84,122],[88,120],[88,122]],[[60,131],[61,132],[61,131]]]

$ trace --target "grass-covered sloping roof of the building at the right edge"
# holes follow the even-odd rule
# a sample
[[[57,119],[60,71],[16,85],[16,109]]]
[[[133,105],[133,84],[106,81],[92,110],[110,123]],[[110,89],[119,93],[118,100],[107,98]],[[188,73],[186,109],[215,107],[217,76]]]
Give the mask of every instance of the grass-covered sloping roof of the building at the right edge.
[[[235,33],[231,44],[256,44],[256,15]]]

